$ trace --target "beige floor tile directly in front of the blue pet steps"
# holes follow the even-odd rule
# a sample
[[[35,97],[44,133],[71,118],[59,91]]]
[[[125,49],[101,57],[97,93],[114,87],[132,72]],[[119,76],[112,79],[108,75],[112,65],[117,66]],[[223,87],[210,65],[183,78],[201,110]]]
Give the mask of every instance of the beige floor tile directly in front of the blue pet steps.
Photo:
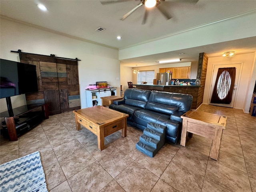
[[[146,156],[142,154],[140,157],[136,159],[136,162],[150,170],[156,176],[160,177],[168,164],[170,163],[171,159],[163,156],[160,153],[157,153],[154,158]]]

